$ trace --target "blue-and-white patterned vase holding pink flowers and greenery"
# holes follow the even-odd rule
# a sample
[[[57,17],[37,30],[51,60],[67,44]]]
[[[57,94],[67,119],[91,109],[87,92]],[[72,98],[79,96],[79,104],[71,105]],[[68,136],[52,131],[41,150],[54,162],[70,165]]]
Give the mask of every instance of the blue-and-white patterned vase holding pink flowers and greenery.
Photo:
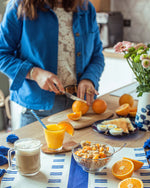
[[[115,52],[124,53],[124,58],[138,82],[136,88],[138,108],[135,124],[141,130],[150,130],[150,45],[128,41],[117,43]]]

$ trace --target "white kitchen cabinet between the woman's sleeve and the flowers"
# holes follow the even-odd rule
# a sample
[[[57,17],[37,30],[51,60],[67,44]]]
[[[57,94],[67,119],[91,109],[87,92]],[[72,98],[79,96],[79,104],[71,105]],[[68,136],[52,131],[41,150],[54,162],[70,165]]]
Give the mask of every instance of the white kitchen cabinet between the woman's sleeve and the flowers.
[[[105,69],[100,79],[99,94],[104,95],[110,91],[131,84],[135,81],[135,76],[127,64],[119,54],[104,55]]]

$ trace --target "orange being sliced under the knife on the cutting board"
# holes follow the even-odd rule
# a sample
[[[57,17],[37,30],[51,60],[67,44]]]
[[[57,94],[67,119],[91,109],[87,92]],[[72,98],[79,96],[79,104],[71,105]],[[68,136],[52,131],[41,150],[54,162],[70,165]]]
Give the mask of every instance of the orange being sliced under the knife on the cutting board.
[[[82,115],[86,114],[89,110],[89,106],[82,101],[74,101],[72,104],[72,111],[73,112],[82,112]]]

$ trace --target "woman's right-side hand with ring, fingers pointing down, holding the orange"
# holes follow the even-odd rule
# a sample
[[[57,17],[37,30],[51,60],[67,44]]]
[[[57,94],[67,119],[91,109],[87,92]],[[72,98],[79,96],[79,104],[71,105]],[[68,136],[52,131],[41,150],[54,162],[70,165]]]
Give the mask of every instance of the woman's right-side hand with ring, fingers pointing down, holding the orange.
[[[94,95],[99,93],[95,90],[92,81],[90,80],[81,80],[78,85],[77,96],[81,99],[84,99],[86,95],[86,101],[88,105],[91,105],[94,100]]]

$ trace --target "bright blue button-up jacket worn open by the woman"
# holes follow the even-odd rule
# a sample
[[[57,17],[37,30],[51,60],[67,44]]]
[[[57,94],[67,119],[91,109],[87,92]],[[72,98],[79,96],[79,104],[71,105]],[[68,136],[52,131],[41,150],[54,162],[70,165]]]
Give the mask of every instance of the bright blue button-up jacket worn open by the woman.
[[[48,110],[55,94],[42,90],[35,81],[26,79],[36,66],[57,74],[58,19],[55,12],[38,11],[38,18],[17,18],[17,2],[11,0],[0,25],[0,71],[11,79],[11,100],[29,109]],[[88,10],[73,14],[77,82],[89,79],[98,89],[104,69],[102,43],[91,3]]]

